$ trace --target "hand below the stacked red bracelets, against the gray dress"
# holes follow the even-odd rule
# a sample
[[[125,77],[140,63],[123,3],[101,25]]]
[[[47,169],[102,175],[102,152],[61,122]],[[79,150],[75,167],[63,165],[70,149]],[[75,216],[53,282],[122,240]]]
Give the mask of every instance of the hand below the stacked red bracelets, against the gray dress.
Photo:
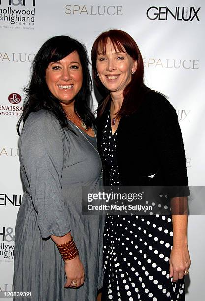
[[[65,274],[67,277],[67,282],[65,283],[64,287],[76,288],[84,283],[85,272],[79,256],[76,256],[71,260],[65,260]],[[75,282],[76,285],[73,285],[72,282]]]

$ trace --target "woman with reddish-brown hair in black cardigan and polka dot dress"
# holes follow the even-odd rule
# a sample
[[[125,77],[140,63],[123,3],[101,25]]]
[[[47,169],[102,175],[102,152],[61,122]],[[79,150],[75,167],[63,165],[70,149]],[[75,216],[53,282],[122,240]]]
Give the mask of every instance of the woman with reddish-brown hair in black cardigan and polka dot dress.
[[[104,96],[97,110],[104,184],[174,186],[168,190],[172,216],[106,216],[102,301],[184,300],[187,214],[177,209],[186,206],[189,189],[176,111],[144,84],[141,53],[126,32],[100,34],[91,57]]]

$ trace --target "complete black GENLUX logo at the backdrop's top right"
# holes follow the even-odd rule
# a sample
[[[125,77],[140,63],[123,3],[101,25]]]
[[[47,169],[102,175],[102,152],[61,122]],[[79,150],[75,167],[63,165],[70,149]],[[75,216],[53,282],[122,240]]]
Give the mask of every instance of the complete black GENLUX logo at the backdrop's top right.
[[[177,6],[170,9],[167,6],[151,6],[147,9],[146,15],[149,20],[200,21],[198,17],[200,8]]]

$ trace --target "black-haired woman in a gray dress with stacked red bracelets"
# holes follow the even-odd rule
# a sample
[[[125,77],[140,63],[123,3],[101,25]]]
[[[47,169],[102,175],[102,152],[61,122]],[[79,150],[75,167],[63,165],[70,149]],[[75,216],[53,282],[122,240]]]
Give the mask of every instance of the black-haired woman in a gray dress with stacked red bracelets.
[[[20,135],[23,122],[25,193],[16,222],[14,290],[30,292],[26,300],[94,301],[102,286],[103,218],[81,213],[82,186],[94,190],[101,183],[86,48],[68,36],[46,41],[26,92],[17,125]]]

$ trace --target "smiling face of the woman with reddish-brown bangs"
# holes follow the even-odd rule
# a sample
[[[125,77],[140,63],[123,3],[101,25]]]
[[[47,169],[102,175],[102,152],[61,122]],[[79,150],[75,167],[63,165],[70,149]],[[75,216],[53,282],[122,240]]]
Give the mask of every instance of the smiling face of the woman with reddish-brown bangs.
[[[123,48],[123,47],[122,47]],[[108,39],[106,53],[99,49],[96,68],[100,81],[111,92],[123,94],[124,88],[132,78],[132,72],[137,69],[137,61],[134,61],[125,51],[120,52],[114,48]]]

